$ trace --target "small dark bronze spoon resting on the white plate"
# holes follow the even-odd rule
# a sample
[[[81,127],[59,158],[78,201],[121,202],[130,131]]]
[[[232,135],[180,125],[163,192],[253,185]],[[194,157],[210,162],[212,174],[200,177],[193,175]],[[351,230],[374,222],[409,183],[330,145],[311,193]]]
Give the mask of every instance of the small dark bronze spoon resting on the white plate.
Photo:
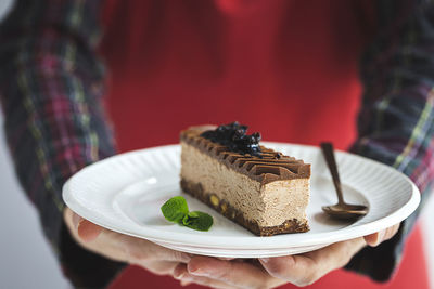
[[[336,188],[337,203],[333,206],[322,206],[322,210],[329,215],[337,219],[356,219],[368,213],[368,207],[363,205],[350,205],[344,201],[342,195],[341,180],[337,173],[337,166],[334,159],[333,145],[331,143],[321,143],[321,150],[324,155],[327,166],[333,178],[333,184]]]

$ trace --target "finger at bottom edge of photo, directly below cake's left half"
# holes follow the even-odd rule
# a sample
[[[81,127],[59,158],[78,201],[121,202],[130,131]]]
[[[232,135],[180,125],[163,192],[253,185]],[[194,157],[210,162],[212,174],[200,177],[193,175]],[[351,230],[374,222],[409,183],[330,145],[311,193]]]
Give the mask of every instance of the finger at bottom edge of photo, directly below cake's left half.
[[[187,265],[189,274],[194,278],[205,278],[239,288],[270,288],[276,285],[263,268],[246,262],[224,261],[215,258],[194,257]],[[275,281],[275,283],[273,283]]]

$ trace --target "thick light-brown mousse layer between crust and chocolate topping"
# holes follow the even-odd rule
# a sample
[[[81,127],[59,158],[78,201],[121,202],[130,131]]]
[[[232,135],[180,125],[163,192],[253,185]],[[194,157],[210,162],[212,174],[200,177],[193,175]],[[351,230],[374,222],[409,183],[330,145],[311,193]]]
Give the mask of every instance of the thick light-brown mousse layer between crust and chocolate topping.
[[[244,224],[252,223],[259,228],[279,227],[294,220],[292,223],[297,225],[288,227],[284,233],[307,229],[305,209],[309,200],[309,179],[293,178],[264,183],[234,170],[232,166],[227,166],[226,162],[189,143],[181,141],[181,179],[184,183],[182,188],[187,193],[201,200],[208,196],[219,205],[220,201],[227,202],[242,215],[238,219],[245,220]],[[199,189],[186,184],[200,185],[201,195],[204,196],[199,197]],[[298,231],[291,231],[294,227]]]

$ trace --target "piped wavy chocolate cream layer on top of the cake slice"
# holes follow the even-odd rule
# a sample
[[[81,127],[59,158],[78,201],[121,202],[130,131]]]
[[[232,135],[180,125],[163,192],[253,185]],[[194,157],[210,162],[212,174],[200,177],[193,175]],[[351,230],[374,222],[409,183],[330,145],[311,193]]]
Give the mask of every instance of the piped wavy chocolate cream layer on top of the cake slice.
[[[278,180],[310,178],[310,165],[304,163],[303,160],[284,156],[264,146],[259,146],[261,150],[260,157],[250,153],[235,153],[229,149],[228,146],[202,136],[204,128],[209,129],[209,127],[195,127],[182,131],[181,141],[261,184]]]

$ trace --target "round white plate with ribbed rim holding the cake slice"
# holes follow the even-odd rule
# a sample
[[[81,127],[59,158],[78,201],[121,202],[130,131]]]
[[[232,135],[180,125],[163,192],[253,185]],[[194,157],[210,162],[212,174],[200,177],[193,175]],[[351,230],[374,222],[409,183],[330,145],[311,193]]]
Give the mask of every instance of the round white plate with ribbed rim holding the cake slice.
[[[180,251],[218,257],[258,258],[311,251],[329,244],[368,235],[392,226],[416,210],[420,194],[403,173],[373,160],[336,152],[348,202],[369,206],[369,213],[348,223],[328,218],[321,206],[336,202],[333,183],[317,147],[264,143],[312,165],[310,231],[257,237],[219,215],[179,187],[180,147],[168,145],[117,155],[91,165],[63,187],[66,205],[91,222]],[[183,195],[191,210],[214,218],[209,232],[167,222],[159,207]]]

